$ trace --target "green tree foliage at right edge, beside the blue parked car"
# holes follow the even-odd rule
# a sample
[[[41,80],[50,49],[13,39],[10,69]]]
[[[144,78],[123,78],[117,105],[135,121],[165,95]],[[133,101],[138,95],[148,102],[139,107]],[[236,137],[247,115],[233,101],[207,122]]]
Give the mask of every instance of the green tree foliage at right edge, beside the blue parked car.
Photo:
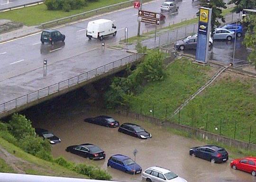
[[[247,17],[248,29],[244,38],[244,44],[251,50],[248,61],[254,64],[256,69],[256,15]]]

